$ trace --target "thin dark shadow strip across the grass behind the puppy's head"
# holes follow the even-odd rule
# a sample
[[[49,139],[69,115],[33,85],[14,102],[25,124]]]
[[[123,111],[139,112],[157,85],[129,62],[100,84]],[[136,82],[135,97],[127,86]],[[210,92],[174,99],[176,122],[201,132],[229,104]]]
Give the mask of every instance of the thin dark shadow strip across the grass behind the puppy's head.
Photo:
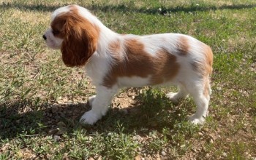
[[[66,6],[68,4],[62,4],[62,5],[45,5],[45,4],[20,4],[20,3],[2,3],[0,4],[1,9],[21,9],[21,10],[31,10],[31,11],[39,11],[39,12],[53,12],[53,10]],[[81,4],[83,6],[83,4]],[[224,4],[220,7],[216,6],[203,6],[203,5],[196,5],[191,4],[190,6],[178,6],[178,7],[152,7],[152,8],[146,8],[146,7],[135,7],[135,5],[130,4],[118,4],[118,5],[102,5],[102,4],[91,4],[89,6],[83,6],[88,9],[94,10],[94,11],[102,11],[102,12],[109,12],[109,11],[115,11],[115,12],[138,12],[138,13],[146,13],[146,14],[159,14],[159,15],[165,15],[168,12],[205,12],[208,10],[217,10],[217,9],[249,9],[256,7],[256,4],[232,4],[227,5]],[[161,9],[159,9],[161,8]]]

